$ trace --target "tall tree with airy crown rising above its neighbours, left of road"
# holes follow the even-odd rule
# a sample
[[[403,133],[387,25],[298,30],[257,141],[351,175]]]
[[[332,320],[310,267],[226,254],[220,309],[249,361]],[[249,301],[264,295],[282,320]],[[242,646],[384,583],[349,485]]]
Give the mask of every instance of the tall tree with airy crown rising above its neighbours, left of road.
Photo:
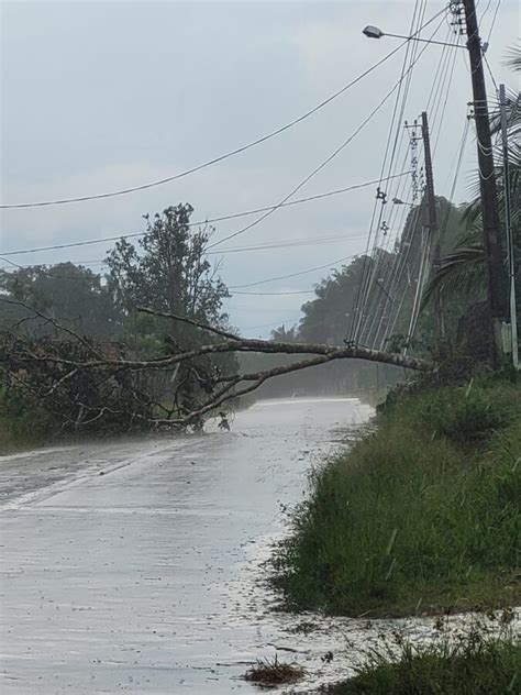
[[[170,206],[153,218],[145,216],[146,230],[138,247],[121,239],[107,257],[109,290],[132,322],[128,332],[134,333],[135,348],[147,341],[157,352],[159,340],[165,353],[195,349],[213,340],[189,322],[140,316],[137,311],[143,307],[204,326],[228,327],[229,317],[222,305],[229,291],[219,277],[219,266],[212,266],[206,256],[213,230],[192,230],[192,212],[193,208],[186,203]],[[163,378],[157,399],[168,400],[173,412],[187,412],[223,369],[230,373],[236,369],[233,355],[204,355],[193,363],[184,363],[174,379]]]

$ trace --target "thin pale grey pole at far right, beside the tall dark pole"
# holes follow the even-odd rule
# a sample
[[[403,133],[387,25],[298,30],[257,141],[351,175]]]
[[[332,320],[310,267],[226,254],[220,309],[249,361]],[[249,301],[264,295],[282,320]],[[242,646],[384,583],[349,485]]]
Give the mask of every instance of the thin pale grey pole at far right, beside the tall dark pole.
[[[512,208],[510,200],[510,163],[508,156],[507,95],[505,90],[505,85],[499,85],[499,107],[501,113],[501,141],[503,151],[505,227],[507,228],[507,250],[510,279],[510,328],[512,333],[512,364],[516,369],[519,369],[518,315],[516,306],[516,246],[513,243]]]

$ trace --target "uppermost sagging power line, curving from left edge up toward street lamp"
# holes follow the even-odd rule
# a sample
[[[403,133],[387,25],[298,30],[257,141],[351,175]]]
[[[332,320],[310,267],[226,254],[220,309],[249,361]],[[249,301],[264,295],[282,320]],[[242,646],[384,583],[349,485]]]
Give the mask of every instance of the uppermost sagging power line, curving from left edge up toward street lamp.
[[[440,13],[441,12],[435,14],[430,21],[431,22],[434,21]],[[123,189],[114,190],[114,191],[110,191],[110,192],[93,194],[93,195],[90,195],[90,196],[77,196],[75,198],[62,198],[62,199],[57,199],[57,200],[41,200],[41,201],[37,201],[37,202],[2,203],[2,205],[0,205],[0,209],[9,210],[9,209],[16,209],[16,208],[18,209],[20,209],[20,208],[42,208],[42,207],[48,207],[48,206],[68,205],[68,203],[73,203],[73,202],[85,202],[87,200],[100,200],[102,198],[114,198],[115,196],[125,196],[125,195],[133,194],[133,192],[136,192],[136,191],[140,191],[140,190],[146,190],[148,188],[155,188],[157,186],[163,186],[164,184],[168,184],[168,183],[177,180],[179,178],[184,178],[186,176],[189,176],[190,174],[195,174],[196,172],[200,172],[203,168],[207,168],[209,166],[212,166],[214,164],[223,162],[224,159],[229,159],[230,157],[233,157],[233,156],[235,156],[237,154],[241,154],[243,152],[246,152],[247,150],[251,150],[252,147],[255,147],[256,145],[259,145],[259,144],[266,142],[266,141],[270,140],[271,137],[275,137],[276,135],[280,135],[281,133],[284,133],[285,131],[289,130],[290,128],[293,128],[298,123],[301,123],[302,121],[304,121],[309,117],[311,117],[314,113],[317,113],[317,111],[320,111],[325,106],[328,106],[329,103],[334,101],[337,97],[340,97],[341,95],[345,93],[348,89],[351,89],[351,87],[354,87],[364,77],[366,77],[367,75],[373,73],[376,68],[378,68],[380,65],[386,63],[390,57],[392,57],[396,53],[398,53],[406,44],[408,44],[409,41],[410,40],[408,38],[407,41],[402,42],[399,46],[397,46],[396,48],[390,51],[387,55],[385,55],[383,58],[380,58],[377,63],[375,63],[369,68],[367,68],[366,70],[361,73],[353,80],[351,80],[350,82],[344,85],[341,89],[335,91],[333,95],[331,95],[330,97],[328,97],[326,99],[324,99],[323,101],[318,103],[315,107],[313,107],[312,109],[310,109],[306,113],[303,113],[303,114],[299,115],[298,118],[293,119],[289,123],[286,123],[285,125],[281,125],[280,128],[277,128],[276,130],[271,131],[270,133],[267,133],[266,135],[257,137],[256,140],[247,143],[246,145],[242,145],[241,147],[236,147],[235,150],[232,150],[230,152],[226,152],[225,154],[219,155],[218,157],[213,157],[212,159],[208,159],[207,162],[203,162],[202,164],[193,166],[193,167],[191,167],[189,169],[185,169],[184,172],[179,172],[178,174],[174,174],[173,176],[167,176],[165,178],[162,178],[162,179],[158,179],[158,180],[155,180],[155,181],[151,181],[151,183],[147,183],[147,184],[142,184],[140,186],[133,186],[133,187],[130,187],[130,188],[123,188]]]

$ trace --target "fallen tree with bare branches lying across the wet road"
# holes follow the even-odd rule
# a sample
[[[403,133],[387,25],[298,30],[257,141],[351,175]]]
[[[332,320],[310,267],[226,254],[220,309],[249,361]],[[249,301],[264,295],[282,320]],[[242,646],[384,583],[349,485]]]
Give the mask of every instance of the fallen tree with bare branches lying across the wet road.
[[[12,300],[2,301],[13,304]],[[422,372],[434,368],[433,364],[418,357],[369,350],[354,343],[335,346],[246,339],[192,318],[149,308],[141,308],[140,311],[168,319],[169,327],[176,322],[189,324],[209,338],[201,338],[196,348],[185,349],[177,344],[175,337],[167,335],[165,354],[137,360],[129,357],[123,346],[107,350],[107,345],[97,344],[55,319],[22,302],[14,304],[27,312],[27,320],[32,315],[40,321],[47,321],[56,338],[35,341],[16,331],[16,327],[4,331],[0,352],[4,389],[8,394],[14,393],[19,400],[20,395],[26,394],[30,397],[27,402],[43,404],[75,429],[103,418],[120,421],[126,429],[140,421],[151,427],[200,427],[209,413],[254,391],[269,379],[337,360],[365,360]],[[62,334],[66,335],[65,342],[60,339]],[[219,354],[245,352],[302,355],[302,358],[250,373],[229,373],[210,360]],[[146,393],[143,375],[165,373],[169,388],[175,391],[181,365],[188,367],[191,378],[199,386],[197,401],[190,408],[179,406],[175,398],[171,406],[154,401]]]

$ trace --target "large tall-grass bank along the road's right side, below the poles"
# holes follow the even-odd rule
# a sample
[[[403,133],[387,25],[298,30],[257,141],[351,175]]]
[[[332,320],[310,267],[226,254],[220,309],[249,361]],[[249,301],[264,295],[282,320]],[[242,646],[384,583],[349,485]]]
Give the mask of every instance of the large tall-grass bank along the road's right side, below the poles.
[[[407,615],[521,598],[521,391],[403,396],[314,472],[275,559],[287,607]]]

